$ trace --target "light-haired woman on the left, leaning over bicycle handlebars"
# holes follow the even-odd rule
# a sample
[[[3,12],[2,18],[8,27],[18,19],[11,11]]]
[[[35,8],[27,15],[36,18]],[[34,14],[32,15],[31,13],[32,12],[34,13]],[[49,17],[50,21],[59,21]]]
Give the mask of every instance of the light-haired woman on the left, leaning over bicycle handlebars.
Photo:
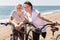
[[[23,31],[24,32],[24,27],[21,27],[20,24],[25,20],[24,18],[24,12],[21,4],[18,4],[16,6],[16,9],[12,12],[10,22],[15,25],[14,29],[14,34],[16,36],[19,36],[20,40],[24,40],[24,34],[18,33],[17,31]]]

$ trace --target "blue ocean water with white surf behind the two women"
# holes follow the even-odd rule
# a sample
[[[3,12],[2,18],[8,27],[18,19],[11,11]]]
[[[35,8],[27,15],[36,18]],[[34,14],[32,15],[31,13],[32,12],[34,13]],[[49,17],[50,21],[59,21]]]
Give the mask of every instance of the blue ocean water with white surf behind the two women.
[[[15,6],[0,6],[0,20],[9,18],[14,8]],[[60,6],[33,6],[33,8],[39,10],[42,14],[60,10]]]

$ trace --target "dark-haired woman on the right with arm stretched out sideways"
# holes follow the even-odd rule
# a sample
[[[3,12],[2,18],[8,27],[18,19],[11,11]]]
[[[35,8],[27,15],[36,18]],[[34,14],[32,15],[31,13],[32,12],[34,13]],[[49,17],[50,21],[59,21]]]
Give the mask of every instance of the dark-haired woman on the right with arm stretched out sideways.
[[[26,14],[27,14],[27,19],[29,20],[29,22],[32,22],[37,28],[42,28],[43,25],[45,24],[44,21],[53,22],[43,17],[38,10],[33,9],[33,6],[31,2],[29,1],[24,2],[24,9],[27,12]],[[32,30],[33,30],[32,31],[33,40],[39,40],[40,34],[36,33],[35,28],[33,28]],[[42,29],[42,37],[43,38],[46,37],[46,28]]]

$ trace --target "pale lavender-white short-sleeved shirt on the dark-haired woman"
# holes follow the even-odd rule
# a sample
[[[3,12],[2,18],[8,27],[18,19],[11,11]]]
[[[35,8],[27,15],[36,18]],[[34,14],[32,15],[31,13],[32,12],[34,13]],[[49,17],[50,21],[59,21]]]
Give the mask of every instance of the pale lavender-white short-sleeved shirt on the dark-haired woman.
[[[33,9],[32,17],[31,18],[29,17],[29,13],[27,13],[27,16],[28,16],[29,22],[32,22],[37,28],[42,28],[45,22],[44,20],[37,17],[39,13],[40,12],[38,10]],[[35,31],[35,28],[33,27],[32,30]],[[46,27],[42,29],[42,32],[46,32]]]

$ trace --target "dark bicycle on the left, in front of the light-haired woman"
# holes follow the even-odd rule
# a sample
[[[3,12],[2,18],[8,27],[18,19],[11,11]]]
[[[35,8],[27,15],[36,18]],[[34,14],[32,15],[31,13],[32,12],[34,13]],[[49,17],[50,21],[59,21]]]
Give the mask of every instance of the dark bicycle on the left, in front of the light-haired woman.
[[[14,29],[15,29],[15,26],[12,24],[12,23],[10,23],[10,22],[7,22],[7,23],[0,23],[1,25],[5,25],[5,26],[7,26],[7,25],[11,25],[12,26],[12,34],[10,34],[10,40],[18,40],[17,39],[17,36],[15,36],[14,35]],[[20,32],[20,33],[23,33],[23,34],[25,34],[25,37],[26,37],[26,35],[28,35],[27,34],[27,32],[25,31],[25,32],[22,32],[22,31],[17,31],[17,30],[15,30],[16,32]],[[30,36],[30,35],[29,35]],[[31,37],[31,36],[30,36]],[[26,39],[25,39],[26,40]]]

